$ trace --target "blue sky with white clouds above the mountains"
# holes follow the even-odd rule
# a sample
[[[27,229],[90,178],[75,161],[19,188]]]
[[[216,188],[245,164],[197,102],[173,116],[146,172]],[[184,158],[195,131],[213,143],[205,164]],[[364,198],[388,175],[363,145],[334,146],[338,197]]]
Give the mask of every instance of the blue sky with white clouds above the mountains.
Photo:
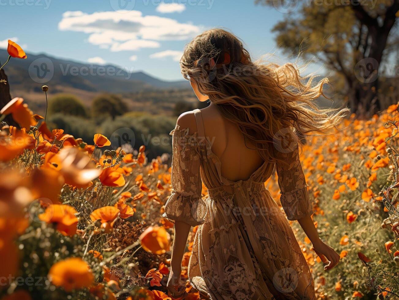
[[[253,0],[0,0],[0,18],[0,47],[17,38],[26,52],[176,80],[180,51],[203,30],[231,30],[257,58],[277,50],[270,31],[283,14]]]

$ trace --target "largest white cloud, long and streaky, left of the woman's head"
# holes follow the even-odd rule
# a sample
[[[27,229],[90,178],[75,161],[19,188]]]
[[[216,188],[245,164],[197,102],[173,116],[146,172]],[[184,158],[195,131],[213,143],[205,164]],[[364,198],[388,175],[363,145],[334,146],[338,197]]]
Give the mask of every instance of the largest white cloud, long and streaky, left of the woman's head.
[[[58,29],[86,33],[89,43],[109,46],[113,52],[158,48],[158,41],[184,40],[200,31],[198,26],[171,18],[143,16],[136,10],[123,12],[65,12]]]

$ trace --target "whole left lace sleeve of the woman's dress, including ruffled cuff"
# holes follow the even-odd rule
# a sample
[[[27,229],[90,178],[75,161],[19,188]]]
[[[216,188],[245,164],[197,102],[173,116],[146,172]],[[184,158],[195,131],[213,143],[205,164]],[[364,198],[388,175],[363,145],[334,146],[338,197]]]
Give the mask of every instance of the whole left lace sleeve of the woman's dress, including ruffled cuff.
[[[188,223],[192,226],[204,222],[206,205],[201,197],[201,177],[198,142],[195,134],[188,134],[189,128],[179,125],[172,135],[172,193],[166,201],[163,217]]]

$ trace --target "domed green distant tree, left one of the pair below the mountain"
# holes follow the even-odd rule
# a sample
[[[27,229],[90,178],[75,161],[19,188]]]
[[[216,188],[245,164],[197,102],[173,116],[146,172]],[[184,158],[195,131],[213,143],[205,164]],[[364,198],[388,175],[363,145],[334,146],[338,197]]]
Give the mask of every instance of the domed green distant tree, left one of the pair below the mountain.
[[[61,94],[49,101],[49,114],[62,113],[72,116],[86,116],[86,109],[82,101],[74,95]]]

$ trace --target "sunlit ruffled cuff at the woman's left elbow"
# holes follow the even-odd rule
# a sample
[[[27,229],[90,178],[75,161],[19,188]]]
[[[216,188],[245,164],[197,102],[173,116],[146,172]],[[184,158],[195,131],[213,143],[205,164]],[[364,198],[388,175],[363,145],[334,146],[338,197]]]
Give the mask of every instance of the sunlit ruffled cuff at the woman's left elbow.
[[[166,201],[165,212],[162,217],[196,226],[204,223],[205,215],[206,204],[200,196],[172,192],[168,201]]]

